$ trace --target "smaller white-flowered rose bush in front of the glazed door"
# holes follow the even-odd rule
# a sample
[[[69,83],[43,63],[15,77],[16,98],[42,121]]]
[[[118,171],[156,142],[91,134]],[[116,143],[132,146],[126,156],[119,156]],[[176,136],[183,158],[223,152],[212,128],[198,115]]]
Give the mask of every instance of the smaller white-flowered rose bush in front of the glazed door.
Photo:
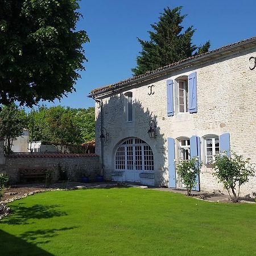
[[[185,184],[188,196],[191,196],[191,190],[196,185],[196,177],[200,174],[201,166],[202,164],[199,163],[198,157],[176,164],[177,174]]]

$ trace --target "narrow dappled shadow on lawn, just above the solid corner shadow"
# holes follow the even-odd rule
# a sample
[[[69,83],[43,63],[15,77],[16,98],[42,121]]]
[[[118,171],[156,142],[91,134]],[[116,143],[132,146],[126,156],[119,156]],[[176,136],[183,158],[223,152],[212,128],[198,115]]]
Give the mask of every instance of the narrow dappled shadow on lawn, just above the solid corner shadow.
[[[72,226],[70,228],[61,229],[38,229],[34,231],[27,231],[21,234],[19,237],[30,243],[36,243],[37,245],[51,242],[53,237],[63,233],[64,231],[78,228],[77,226]]]

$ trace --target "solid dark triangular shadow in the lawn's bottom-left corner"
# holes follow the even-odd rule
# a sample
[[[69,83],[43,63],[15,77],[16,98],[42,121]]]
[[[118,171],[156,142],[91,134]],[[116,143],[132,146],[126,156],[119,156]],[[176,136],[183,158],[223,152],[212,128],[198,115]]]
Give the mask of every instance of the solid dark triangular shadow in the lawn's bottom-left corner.
[[[3,232],[0,230],[1,240],[1,255],[40,255],[40,256],[52,256],[53,254],[40,249],[32,243],[28,243],[18,237]]]

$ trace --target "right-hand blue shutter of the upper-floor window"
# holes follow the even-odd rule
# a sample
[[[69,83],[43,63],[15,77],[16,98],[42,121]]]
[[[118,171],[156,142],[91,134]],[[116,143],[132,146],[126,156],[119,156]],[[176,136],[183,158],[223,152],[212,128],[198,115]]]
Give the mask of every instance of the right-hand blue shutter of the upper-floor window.
[[[189,109],[189,113],[197,112],[196,72],[188,76],[188,109]]]

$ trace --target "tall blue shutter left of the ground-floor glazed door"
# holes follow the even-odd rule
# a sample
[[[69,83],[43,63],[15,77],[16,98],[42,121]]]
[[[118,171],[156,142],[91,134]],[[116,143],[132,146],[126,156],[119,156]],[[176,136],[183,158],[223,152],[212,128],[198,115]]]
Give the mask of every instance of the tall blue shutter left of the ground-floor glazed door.
[[[168,173],[169,187],[176,188],[175,141],[173,138],[168,138]]]

